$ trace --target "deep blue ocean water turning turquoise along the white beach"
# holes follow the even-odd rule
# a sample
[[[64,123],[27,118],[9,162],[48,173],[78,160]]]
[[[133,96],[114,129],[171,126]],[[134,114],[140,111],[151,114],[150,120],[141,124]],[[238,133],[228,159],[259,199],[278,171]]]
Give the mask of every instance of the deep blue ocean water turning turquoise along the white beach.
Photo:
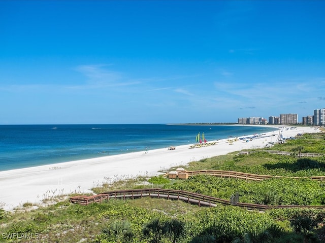
[[[213,125],[0,125],[0,171],[193,144],[276,129]]]

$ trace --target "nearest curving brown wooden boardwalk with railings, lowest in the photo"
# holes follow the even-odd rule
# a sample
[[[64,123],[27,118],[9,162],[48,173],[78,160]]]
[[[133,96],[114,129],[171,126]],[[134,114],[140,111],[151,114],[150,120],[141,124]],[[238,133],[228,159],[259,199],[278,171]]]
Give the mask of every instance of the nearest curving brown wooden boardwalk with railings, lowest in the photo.
[[[268,206],[259,204],[245,204],[235,203],[232,204],[230,200],[216,198],[212,196],[202,195],[198,193],[169,190],[169,189],[135,189],[135,190],[119,190],[109,191],[92,196],[73,196],[70,198],[71,203],[79,205],[89,205],[91,203],[102,203],[110,199],[136,199],[136,198],[165,198],[170,200],[182,200],[188,204],[198,205],[199,207],[216,207],[217,205],[234,205],[237,207],[245,208],[248,210],[266,211],[268,209],[283,209],[283,208],[312,208],[312,209],[325,209],[325,206],[299,206],[299,205],[278,205]]]

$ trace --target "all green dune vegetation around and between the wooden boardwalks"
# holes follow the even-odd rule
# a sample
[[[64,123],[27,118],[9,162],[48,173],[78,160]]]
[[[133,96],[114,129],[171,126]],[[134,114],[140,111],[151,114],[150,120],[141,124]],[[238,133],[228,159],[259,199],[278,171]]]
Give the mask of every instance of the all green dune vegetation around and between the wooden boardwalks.
[[[272,149],[325,153],[325,134],[304,135]],[[325,176],[325,157],[300,157],[236,152],[190,163],[186,170],[232,170],[252,174]],[[325,182],[311,179],[245,181],[208,175],[187,180],[163,177],[107,180],[96,193],[120,189],[161,187],[229,199],[239,192],[244,203],[267,205],[325,205]],[[194,242],[324,242],[325,211],[273,209],[265,213],[235,206],[200,208],[154,198],[113,200],[88,206],[60,201],[34,209],[29,203],[9,214],[0,209],[0,242],[194,243]],[[1,208],[1,207],[0,207]],[[323,234],[323,233],[322,233]],[[28,237],[19,237],[21,235]],[[323,239],[322,239],[323,240]]]

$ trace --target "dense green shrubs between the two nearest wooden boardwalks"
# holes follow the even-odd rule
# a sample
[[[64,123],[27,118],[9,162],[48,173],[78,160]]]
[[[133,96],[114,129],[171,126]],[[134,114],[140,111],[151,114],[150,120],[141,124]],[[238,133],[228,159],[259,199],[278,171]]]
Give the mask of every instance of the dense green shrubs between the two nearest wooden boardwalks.
[[[210,175],[191,176],[166,189],[191,191],[223,199],[239,192],[242,203],[267,205],[319,205],[324,194],[323,183],[310,179],[274,178],[263,181],[245,181],[218,178]],[[272,197],[273,196],[273,197]]]

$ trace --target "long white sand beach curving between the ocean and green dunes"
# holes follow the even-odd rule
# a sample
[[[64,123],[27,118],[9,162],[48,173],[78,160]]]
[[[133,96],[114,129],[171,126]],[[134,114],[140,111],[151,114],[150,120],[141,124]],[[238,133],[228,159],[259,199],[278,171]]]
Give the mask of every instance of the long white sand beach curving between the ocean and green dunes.
[[[278,126],[275,126],[278,128]],[[315,133],[320,130],[311,127],[282,129],[283,138],[295,137],[298,133]],[[281,130],[279,130],[281,131]],[[5,210],[13,210],[29,202],[39,204],[43,199],[71,192],[89,193],[91,188],[102,185],[114,178],[153,176],[158,171],[170,167],[186,165],[190,161],[226,154],[249,148],[263,148],[275,142],[279,131],[270,132],[263,137],[235,141],[232,145],[226,140],[218,140],[216,145],[189,149],[190,145],[111,155],[100,158],[70,161],[67,163],[31,167],[0,172],[0,203]],[[274,134],[274,136],[272,136]],[[209,141],[211,142],[211,141]],[[19,158],[17,158],[19,159]]]

